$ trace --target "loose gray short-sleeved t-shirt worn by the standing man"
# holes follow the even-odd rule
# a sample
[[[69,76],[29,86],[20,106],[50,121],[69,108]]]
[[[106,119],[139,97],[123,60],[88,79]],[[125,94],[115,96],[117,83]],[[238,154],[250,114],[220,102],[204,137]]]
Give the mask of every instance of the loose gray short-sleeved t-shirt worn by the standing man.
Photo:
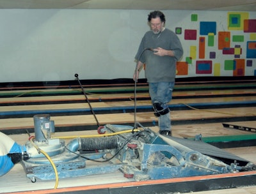
[[[149,48],[161,47],[173,50],[175,56],[156,56]],[[135,56],[137,61],[146,64],[145,77],[147,82],[174,82],[176,75],[176,62],[182,57],[183,48],[178,36],[164,29],[159,34],[148,31],[143,36],[138,52]]]

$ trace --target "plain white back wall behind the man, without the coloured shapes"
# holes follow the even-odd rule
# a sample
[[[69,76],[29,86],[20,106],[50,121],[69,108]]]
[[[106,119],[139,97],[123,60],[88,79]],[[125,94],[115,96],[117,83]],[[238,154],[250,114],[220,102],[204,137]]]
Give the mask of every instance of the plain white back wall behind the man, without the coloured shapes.
[[[0,10],[0,82],[74,80],[75,73],[80,79],[131,78],[149,12]],[[193,13],[163,12],[173,31],[188,27]],[[196,13],[206,20],[227,17],[225,11]],[[189,45],[181,41],[189,56]]]

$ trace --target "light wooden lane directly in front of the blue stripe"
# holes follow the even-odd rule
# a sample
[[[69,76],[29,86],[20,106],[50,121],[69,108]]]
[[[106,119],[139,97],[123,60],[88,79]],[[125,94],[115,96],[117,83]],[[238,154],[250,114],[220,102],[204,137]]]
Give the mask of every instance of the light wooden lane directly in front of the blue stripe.
[[[97,114],[96,116],[100,124],[134,123],[134,113]],[[193,119],[204,121],[205,119],[244,116],[255,116],[255,107],[174,110],[171,112],[172,121],[189,121]],[[54,121],[56,126],[81,126],[95,124],[93,115],[52,116],[51,120]],[[157,121],[157,117],[154,116],[153,112],[137,112],[136,120],[140,123],[154,123]],[[33,118],[0,119],[0,126],[1,129],[33,128]]]

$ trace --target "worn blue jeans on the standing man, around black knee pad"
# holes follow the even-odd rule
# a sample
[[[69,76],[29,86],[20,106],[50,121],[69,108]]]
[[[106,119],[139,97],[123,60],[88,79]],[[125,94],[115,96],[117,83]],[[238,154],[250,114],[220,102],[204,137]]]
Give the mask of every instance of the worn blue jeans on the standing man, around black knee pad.
[[[174,82],[156,82],[148,83],[149,94],[152,103],[160,103],[161,107],[168,108],[168,103],[172,100],[172,91]],[[170,113],[158,117],[159,130],[171,130]]]

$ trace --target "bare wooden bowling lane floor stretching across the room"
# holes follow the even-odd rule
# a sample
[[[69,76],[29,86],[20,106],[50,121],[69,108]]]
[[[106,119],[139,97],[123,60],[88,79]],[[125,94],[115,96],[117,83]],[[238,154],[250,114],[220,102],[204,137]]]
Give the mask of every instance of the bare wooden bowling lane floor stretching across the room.
[[[247,83],[248,84],[248,83]],[[211,85],[211,84],[210,84]],[[236,124],[255,128],[256,126],[256,87],[228,87],[223,89],[223,83],[195,84],[193,90],[184,91],[184,85],[178,85],[174,91],[173,100],[170,103],[172,131],[174,137],[193,138],[202,134],[202,137],[218,137],[230,135],[250,135],[253,131],[224,128],[222,123]],[[227,86],[226,84],[225,86]],[[232,84],[231,84],[232,85]],[[235,83],[234,85],[237,85]],[[255,86],[255,85],[254,85]],[[199,87],[199,88],[198,88]],[[205,89],[202,89],[204,88]],[[128,88],[128,87],[125,87]],[[149,108],[150,100],[147,86],[138,86],[142,90],[137,93],[136,121],[158,131],[157,118]],[[230,89],[232,88],[232,89]],[[104,93],[99,91],[103,88],[90,88],[88,98],[100,125],[103,124],[134,124],[134,94],[132,91],[125,93]],[[124,90],[124,87],[115,87],[115,90]],[[131,87],[132,89],[132,87]],[[77,93],[77,91],[79,93]],[[95,93],[93,93],[95,92]],[[31,95],[39,93],[37,95]],[[58,93],[47,94],[42,93]],[[64,93],[64,94],[63,94]],[[76,93],[76,94],[72,94]],[[79,89],[15,89],[0,91],[0,131],[10,135],[18,144],[24,144],[28,140],[26,130],[33,129],[33,114],[49,113],[54,121],[55,136],[68,135],[91,135],[97,134],[97,123],[90,112],[90,107]],[[83,130],[84,129],[84,130]],[[31,133],[33,135],[33,133]],[[53,135],[53,136],[54,136]],[[241,158],[256,163],[256,147],[228,148],[226,151],[236,154]],[[125,179],[121,172],[115,174],[100,175],[101,184],[124,183]],[[58,188],[99,184],[99,175],[81,177],[79,179],[61,179]],[[20,164],[0,177],[0,192],[9,193],[29,190],[45,190],[54,187],[54,181],[37,181],[31,183],[26,178]],[[256,187],[244,187],[218,191],[202,191],[194,193],[256,193]]]

